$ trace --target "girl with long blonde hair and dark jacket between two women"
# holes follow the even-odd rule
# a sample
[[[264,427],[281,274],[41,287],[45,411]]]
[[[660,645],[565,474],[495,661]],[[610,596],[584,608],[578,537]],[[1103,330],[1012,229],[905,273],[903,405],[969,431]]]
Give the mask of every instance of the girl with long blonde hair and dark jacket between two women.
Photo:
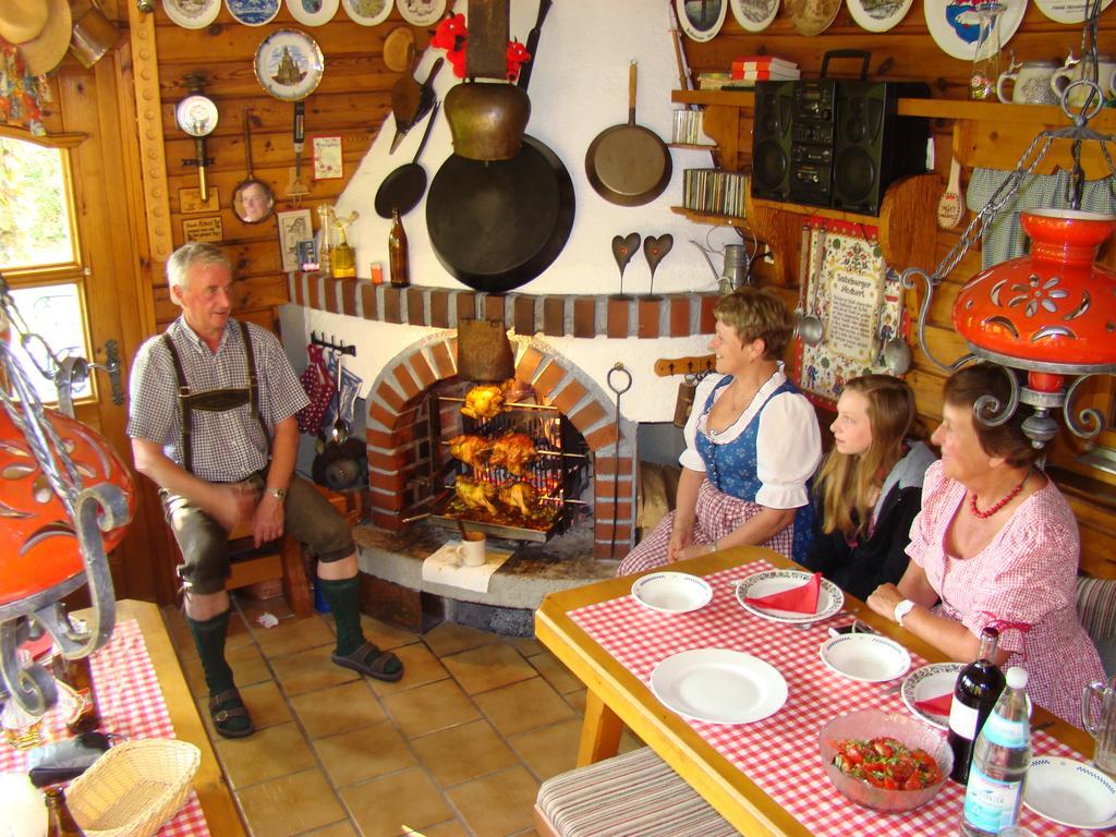
[[[917,441],[914,394],[888,375],[853,378],[837,402],[834,448],[815,482],[815,537],[804,561],[865,598],[906,570],[911,523],[934,454]]]

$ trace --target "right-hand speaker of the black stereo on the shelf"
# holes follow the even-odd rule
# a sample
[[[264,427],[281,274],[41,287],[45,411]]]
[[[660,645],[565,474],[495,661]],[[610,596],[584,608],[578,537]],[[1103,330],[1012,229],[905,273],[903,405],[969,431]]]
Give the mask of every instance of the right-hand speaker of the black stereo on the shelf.
[[[839,81],[830,205],[878,215],[887,186],[926,171],[930,119],[898,116],[898,99],[929,98],[917,83]]]

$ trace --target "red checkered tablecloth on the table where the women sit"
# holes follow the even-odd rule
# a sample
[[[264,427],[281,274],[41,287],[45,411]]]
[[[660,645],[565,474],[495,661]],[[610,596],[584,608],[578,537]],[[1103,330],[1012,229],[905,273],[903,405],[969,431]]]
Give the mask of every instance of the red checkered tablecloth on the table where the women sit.
[[[754,616],[737,602],[732,580],[771,569],[763,561],[705,576],[713,600],[700,610],[668,615],[643,607],[631,596],[571,610],[570,618],[643,683],[668,656],[696,648],[730,648],[767,661],[787,681],[786,705],[771,718],[747,724],[687,723],[763,792],[816,835],[960,834],[964,789],[947,781],[926,806],[905,814],[877,814],[841,796],[818,758],[818,731],[844,712],[882,709],[905,712],[902,698],[887,685],[858,683],[831,672],[819,656],[830,623],[809,629]],[[912,668],[926,661],[912,654]],[[650,686],[648,686],[650,687]],[[944,733],[942,733],[944,735]],[[1037,732],[1037,754],[1085,760],[1052,737]],[[1097,834],[1054,825],[1023,809],[1022,825],[1037,835]]]

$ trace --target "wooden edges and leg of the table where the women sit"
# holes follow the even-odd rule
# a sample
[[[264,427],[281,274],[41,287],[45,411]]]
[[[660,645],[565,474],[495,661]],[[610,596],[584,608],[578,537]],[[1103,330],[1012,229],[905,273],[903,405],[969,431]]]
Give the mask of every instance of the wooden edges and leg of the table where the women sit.
[[[737,547],[680,561],[671,569],[699,576],[766,560],[780,568],[796,565],[758,547]],[[551,594],[536,613],[536,636],[588,687],[578,766],[614,756],[627,725],[685,779],[729,822],[743,834],[806,837],[810,831],[772,800],[747,776],[701,738],[680,715],[668,710],[651,690],[622,666],[569,617],[586,605],[628,595],[634,576],[599,581]],[[931,662],[945,660],[941,652],[889,619],[872,613],[846,594],[846,609],[859,606],[857,617],[879,633]],[[793,628],[789,628],[793,629]],[[1046,731],[1079,752],[1091,752],[1085,732],[1036,708],[1032,721],[1052,722]],[[812,753],[810,754],[814,756]]]

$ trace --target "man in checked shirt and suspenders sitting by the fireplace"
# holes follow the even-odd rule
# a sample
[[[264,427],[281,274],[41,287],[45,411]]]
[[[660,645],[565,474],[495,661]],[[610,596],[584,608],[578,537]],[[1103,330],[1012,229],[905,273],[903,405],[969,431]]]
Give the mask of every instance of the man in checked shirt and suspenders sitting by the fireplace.
[[[341,514],[294,474],[295,414],[307,403],[279,340],[229,316],[232,267],[217,247],[192,242],[166,263],[182,316],[140,347],[129,383],[128,435],[136,470],[154,481],[182,551],[190,626],[217,731],[253,731],[224,660],[229,625],[228,533],[251,523],[256,546],[285,531],[318,559],[337,625],[333,661],[396,681],[403,666],[365,641],[353,535]]]

